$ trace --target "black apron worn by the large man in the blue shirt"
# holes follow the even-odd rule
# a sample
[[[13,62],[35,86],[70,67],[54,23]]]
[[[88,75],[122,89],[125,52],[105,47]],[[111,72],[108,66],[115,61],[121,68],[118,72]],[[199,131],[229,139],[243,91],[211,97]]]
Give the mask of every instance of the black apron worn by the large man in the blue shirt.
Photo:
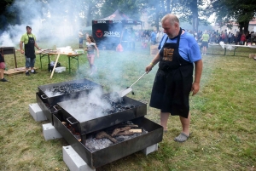
[[[159,69],[154,78],[149,105],[161,112],[188,118],[194,65],[183,60],[178,53],[181,33],[180,28],[177,43],[165,42],[160,49]]]

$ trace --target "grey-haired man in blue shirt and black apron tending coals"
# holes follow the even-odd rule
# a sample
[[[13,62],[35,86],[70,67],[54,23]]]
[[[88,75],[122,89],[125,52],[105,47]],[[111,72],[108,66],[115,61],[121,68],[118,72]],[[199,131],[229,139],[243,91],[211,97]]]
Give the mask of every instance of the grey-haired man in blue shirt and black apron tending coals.
[[[149,105],[160,109],[160,125],[164,131],[167,131],[170,113],[179,116],[182,132],[174,140],[184,142],[190,135],[189,93],[192,91],[195,95],[200,88],[201,51],[195,38],[180,28],[175,14],[166,14],[161,23],[166,34],[160,42],[159,53],[145,69],[149,72],[159,62]]]

